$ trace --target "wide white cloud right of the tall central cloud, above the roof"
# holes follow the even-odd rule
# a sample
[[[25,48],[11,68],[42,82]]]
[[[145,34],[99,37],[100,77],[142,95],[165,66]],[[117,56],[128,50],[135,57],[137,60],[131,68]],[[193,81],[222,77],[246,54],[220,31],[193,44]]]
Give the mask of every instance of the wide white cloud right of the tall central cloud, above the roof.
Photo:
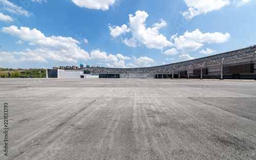
[[[175,45],[178,50],[182,51],[196,51],[207,43],[222,43],[230,38],[229,33],[202,33],[199,29],[193,32],[186,31],[183,36],[174,37]]]

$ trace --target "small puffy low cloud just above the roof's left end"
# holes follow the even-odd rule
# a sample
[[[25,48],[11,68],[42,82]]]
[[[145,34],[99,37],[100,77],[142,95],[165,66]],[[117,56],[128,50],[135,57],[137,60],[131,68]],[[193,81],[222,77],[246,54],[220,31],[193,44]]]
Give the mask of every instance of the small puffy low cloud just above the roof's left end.
[[[99,50],[93,50],[91,52],[91,57],[94,60],[105,61],[105,62],[117,62],[118,59],[115,55],[110,54],[106,56],[105,52],[100,52]]]

